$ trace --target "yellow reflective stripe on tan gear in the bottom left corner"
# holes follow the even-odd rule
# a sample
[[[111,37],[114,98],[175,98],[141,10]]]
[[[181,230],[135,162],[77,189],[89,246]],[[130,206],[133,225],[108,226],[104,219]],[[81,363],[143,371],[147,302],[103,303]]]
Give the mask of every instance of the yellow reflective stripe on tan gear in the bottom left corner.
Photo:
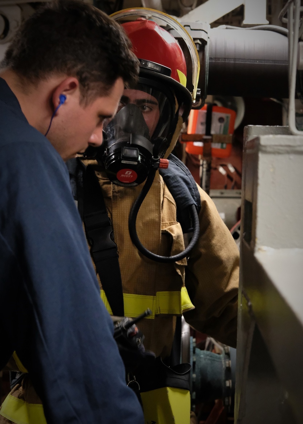
[[[27,403],[11,395],[4,400],[0,414],[17,424],[47,424],[41,404]]]

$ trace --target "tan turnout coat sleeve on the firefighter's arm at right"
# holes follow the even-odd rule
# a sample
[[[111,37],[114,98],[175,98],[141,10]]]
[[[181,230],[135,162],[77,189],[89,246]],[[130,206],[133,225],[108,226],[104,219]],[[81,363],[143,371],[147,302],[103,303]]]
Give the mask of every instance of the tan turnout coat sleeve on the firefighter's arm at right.
[[[195,309],[185,312],[184,318],[198,331],[236,347],[239,251],[214,202],[198,190],[200,237],[185,277]]]

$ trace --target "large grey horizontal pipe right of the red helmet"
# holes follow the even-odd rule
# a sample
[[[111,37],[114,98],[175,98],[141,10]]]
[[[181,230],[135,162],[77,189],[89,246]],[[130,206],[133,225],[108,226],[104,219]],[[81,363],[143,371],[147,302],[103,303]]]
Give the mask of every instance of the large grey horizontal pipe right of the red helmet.
[[[207,94],[288,98],[285,35],[264,30],[211,28],[208,36]]]

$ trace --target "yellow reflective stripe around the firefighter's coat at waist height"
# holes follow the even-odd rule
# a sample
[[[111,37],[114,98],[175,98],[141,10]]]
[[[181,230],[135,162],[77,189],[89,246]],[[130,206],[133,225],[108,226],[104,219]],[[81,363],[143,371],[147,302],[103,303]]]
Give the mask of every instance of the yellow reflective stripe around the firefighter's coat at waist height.
[[[104,293],[100,292],[101,298],[108,312],[112,315],[111,307]],[[161,291],[156,296],[145,296],[140,294],[123,293],[124,314],[128,317],[136,317],[147,308],[150,308],[152,315],[147,319],[155,318],[155,315],[181,315],[183,311],[193,309],[194,305],[189,299],[186,287],[182,287],[181,291]]]

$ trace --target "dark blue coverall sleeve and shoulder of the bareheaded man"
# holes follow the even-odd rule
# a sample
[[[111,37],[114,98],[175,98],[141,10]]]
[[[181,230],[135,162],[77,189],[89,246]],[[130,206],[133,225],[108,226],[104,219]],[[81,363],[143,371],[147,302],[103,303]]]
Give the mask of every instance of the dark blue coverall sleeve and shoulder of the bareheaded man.
[[[48,144],[1,149],[1,320],[48,424],[142,424],[67,169]]]

